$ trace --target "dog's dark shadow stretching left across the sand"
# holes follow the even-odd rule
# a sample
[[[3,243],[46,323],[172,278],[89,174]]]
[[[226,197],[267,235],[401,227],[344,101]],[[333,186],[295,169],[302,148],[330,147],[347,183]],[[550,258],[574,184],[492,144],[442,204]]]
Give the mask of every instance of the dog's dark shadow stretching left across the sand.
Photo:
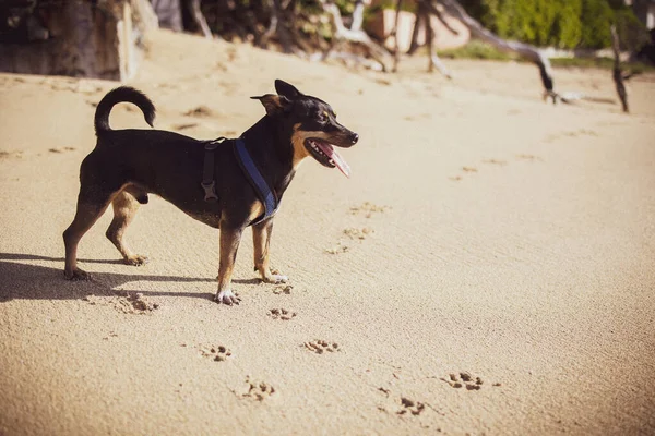
[[[60,263],[60,267],[21,263],[21,261],[50,261]],[[33,254],[0,253],[0,303],[11,300],[78,300],[90,294],[116,295],[117,289],[126,283],[135,281],[154,282],[205,282],[207,290],[215,292],[215,278],[181,277],[181,276],[148,276],[139,274],[139,268],[128,267],[126,274],[94,272],[87,281],[71,281],[63,278],[63,257],[48,257]],[[121,261],[80,259],[81,263],[122,264]],[[258,279],[233,279],[240,284],[257,284]],[[214,283],[214,286],[212,286]],[[198,292],[156,292],[124,288],[120,292],[140,292],[147,296],[184,296],[213,300],[214,293]]]

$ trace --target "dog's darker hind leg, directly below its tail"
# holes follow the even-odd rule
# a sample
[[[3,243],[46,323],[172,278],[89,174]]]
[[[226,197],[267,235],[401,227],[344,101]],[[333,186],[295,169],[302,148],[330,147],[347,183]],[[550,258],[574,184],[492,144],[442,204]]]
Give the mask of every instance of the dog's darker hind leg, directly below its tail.
[[[63,275],[69,280],[88,280],[91,276],[84,270],[78,268],[78,244],[80,240],[97,221],[97,219],[107,210],[111,194],[103,195],[102,201],[97,194],[94,194],[94,199],[91,199],[88,192],[92,190],[80,190],[78,197],[78,210],[75,218],[68,229],[63,232],[63,244],[66,246],[66,266]]]

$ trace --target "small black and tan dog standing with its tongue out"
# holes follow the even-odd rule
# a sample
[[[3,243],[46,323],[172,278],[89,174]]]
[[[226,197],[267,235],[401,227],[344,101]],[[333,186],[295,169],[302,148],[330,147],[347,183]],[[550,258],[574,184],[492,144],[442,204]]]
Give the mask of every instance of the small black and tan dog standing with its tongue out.
[[[90,278],[78,268],[78,244],[109,204],[114,220],[107,238],[127,264],[144,264],[146,257],[133,254],[122,237],[139,204],[147,203],[147,194],[153,193],[192,218],[221,229],[217,302],[239,302],[230,290],[231,274],[241,233],[248,226],[252,226],[254,268],[262,280],[286,281],[269,267],[274,211],[298,165],[308,156],[348,175],[349,168],[333,145],[350,147],[358,135],[336,121],[325,101],[283,81],[275,81],[275,89],[277,95],[252,97],[266,109],[261,120],[238,140],[215,142],[158,130],[111,130],[109,112],[114,105],[136,105],[150,125],[155,108],[134,88],[121,86],[109,92],[95,114],[97,145],[80,168],[75,218],[63,232],[66,278]]]

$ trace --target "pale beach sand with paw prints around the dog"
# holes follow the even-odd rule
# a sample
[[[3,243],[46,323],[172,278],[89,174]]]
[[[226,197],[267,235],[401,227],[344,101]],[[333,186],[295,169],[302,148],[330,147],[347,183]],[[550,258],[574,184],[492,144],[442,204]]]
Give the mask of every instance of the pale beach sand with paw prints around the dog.
[[[272,263],[211,301],[218,232],[157,197],[119,262],[107,213],[62,276],[93,113],[116,83],[0,75],[0,434],[655,433],[655,76],[633,112],[547,105],[529,64],[451,61],[449,82],[148,36],[130,84],[155,125],[235,136],[284,78],[360,134],[350,179],[303,162]],[[616,100],[610,73],[560,90]],[[118,106],[112,126],[147,128]]]

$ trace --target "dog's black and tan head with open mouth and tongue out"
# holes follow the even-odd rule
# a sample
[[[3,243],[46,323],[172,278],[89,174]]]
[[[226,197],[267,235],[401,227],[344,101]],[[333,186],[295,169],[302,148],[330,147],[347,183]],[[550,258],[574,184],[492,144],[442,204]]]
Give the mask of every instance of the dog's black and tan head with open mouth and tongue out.
[[[275,81],[275,94],[266,94],[259,99],[266,114],[277,120],[286,135],[290,135],[294,148],[294,167],[308,156],[327,168],[338,168],[346,177],[350,175],[348,164],[334,150],[337,147],[352,147],[359,135],[340,124],[336,113],[325,101],[300,93],[293,85]]]

